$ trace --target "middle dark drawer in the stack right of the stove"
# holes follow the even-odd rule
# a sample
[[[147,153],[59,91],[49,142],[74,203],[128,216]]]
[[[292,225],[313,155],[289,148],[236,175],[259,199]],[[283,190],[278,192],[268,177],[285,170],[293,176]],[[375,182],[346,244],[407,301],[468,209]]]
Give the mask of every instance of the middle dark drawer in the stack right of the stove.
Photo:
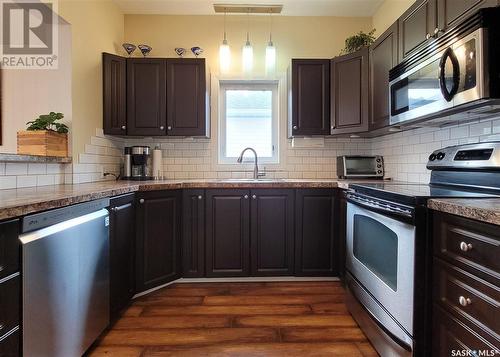
[[[434,301],[492,335],[500,332],[500,288],[434,259]]]

